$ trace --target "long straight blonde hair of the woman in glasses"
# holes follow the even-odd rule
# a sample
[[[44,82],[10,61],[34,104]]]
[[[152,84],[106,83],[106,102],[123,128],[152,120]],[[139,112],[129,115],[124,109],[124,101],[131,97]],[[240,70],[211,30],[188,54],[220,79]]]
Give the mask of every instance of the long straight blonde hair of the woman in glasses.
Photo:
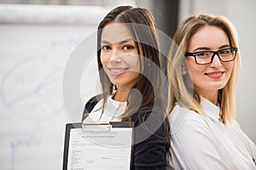
[[[173,37],[167,63],[167,78],[169,82],[168,107],[170,114],[175,104],[189,108],[199,114],[204,114],[201,108],[201,97],[193,89],[193,82],[187,74],[183,74],[186,66],[184,53],[189,48],[189,40],[203,26],[217,26],[222,29],[230,41],[230,47],[238,48],[236,29],[224,16],[212,14],[191,15],[177,27]],[[233,70],[230,80],[223,89],[218,90],[218,104],[222,111],[222,121],[224,124],[232,122],[236,112],[235,107],[235,87],[240,71],[240,54],[236,54],[233,61]]]

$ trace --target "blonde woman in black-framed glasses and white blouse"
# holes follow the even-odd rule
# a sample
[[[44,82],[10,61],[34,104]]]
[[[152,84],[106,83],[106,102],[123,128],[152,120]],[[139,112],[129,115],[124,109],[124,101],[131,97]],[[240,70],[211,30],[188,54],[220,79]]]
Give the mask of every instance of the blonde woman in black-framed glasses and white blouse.
[[[235,119],[241,62],[234,27],[223,16],[189,16],[169,57],[172,157],[180,168],[256,169],[256,146]]]

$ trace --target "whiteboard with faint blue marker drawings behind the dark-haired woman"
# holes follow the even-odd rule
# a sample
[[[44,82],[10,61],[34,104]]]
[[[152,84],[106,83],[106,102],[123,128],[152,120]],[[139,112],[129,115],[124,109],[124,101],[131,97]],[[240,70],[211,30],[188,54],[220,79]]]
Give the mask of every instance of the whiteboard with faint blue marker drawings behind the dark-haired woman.
[[[70,55],[96,35],[108,11],[0,5],[0,169],[61,169],[65,124],[79,122],[84,107],[71,120],[63,104],[63,74]],[[96,39],[91,44],[96,47]],[[90,55],[87,61],[83,102],[96,94],[96,60]]]

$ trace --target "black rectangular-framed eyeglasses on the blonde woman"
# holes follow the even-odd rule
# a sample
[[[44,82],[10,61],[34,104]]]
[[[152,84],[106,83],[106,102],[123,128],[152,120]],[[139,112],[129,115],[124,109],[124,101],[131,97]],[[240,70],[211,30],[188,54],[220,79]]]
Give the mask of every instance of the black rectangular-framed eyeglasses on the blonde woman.
[[[207,65],[212,63],[215,54],[217,54],[218,59],[222,62],[230,62],[236,59],[236,52],[238,48],[224,48],[218,51],[199,51],[195,53],[185,53],[185,56],[193,56],[195,58],[195,63],[198,65]]]

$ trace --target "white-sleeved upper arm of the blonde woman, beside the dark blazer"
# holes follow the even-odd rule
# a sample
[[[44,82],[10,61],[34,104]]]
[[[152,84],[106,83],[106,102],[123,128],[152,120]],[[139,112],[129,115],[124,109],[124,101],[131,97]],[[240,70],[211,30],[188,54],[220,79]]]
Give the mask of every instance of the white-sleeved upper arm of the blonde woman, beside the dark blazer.
[[[229,169],[218,152],[218,142],[204,121],[189,119],[172,134],[172,140],[184,169]]]

